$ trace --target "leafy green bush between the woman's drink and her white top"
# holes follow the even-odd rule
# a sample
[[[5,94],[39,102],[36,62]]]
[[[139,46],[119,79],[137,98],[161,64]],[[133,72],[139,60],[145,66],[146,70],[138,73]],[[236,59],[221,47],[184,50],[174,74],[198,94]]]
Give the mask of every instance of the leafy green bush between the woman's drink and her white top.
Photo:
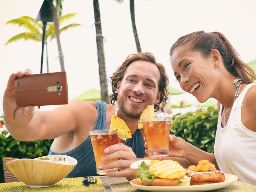
[[[172,117],[171,134],[183,138],[197,148],[213,153],[218,111],[214,107]]]

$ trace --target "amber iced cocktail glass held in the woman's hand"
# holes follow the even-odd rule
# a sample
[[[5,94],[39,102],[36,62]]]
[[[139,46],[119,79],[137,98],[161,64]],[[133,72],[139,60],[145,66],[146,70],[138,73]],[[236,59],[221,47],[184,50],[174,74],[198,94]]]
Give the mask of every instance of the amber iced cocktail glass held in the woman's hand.
[[[160,159],[169,157],[171,117],[141,119],[148,144],[148,157]]]

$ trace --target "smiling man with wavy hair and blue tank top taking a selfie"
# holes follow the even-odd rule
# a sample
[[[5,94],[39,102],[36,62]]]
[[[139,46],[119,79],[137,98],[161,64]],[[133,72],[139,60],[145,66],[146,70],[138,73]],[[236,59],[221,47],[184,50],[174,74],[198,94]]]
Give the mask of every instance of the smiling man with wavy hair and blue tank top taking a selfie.
[[[118,108],[117,116],[123,119],[131,130],[132,138],[123,143],[105,149],[103,169],[118,167],[118,172],[107,172],[108,176],[136,178],[130,165],[143,158],[144,130],[137,129],[140,114],[147,105],[154,104],[155,109],[165,103],[167,98],[168,76],[162,64],[156,63],[149,52],[130,55],[110,77],[112,105],[104,102],[85,102],[69,100],[67,105],[59,105],[52,111],[40,111],[33,106],[17,108],[14,82],[16,76],[30,75],[27,69],[13,73],[4,93],[3,108],[5,125],[13,137],[32,141],[37,139],[55,139],[49,154],[64,154],[77,159],[78,164],[67,177],[96,175],[89,131],[109,129],[111,116]],[[123,141],[123,140],[121,140]]]

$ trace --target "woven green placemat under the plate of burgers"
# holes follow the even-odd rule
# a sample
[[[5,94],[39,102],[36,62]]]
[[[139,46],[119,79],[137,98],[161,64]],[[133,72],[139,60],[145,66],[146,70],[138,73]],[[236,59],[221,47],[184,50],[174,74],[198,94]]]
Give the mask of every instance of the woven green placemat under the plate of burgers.
[[[139,190],[135,187],[133,187],[129,182],[126,183],[110,183],[109,186],[111,187],[113,192],[143,192],[142,190]],[[240,181],[236,181],[232,185],[229,185],[227,187],[223,187],[216,190],[211,190],[209,192],[253,192],[256,191],[256,186],[250,185],[247,183],[243,183]]]

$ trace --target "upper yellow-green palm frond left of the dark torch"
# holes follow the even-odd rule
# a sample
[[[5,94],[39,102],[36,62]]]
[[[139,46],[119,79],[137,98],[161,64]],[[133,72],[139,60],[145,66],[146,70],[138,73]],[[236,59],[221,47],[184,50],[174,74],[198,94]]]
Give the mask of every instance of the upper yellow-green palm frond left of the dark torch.
[[[5,23],[5,25],[13,24],[18,25],[19,27],[23,27],[28,30],[28,32],[36,32],[39,33],[39,31],[42,29],[41,23],[35,21],[32,17],[29,16],[22,16],[17,19],[9,20]]]

